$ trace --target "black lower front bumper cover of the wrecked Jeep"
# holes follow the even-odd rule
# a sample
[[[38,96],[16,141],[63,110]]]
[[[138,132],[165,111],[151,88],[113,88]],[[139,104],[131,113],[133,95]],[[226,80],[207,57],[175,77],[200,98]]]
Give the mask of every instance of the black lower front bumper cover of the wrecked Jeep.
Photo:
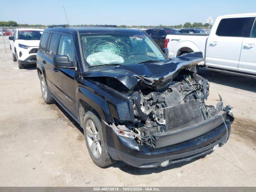
[[[229,118],[227,115],[225,123],[228,127],[228,137],[232,121],[233,118]],[[161,148],[138,145],[134,139],[118,136],[113,132],[111,126],[104,121],[102,121],[102,130],[110,156],[114,160],[122,160],[139,168],[157,167],[167,160],[169,160],[168,164],[189,161],[211,153],[214,146],[222,146],[227,141],[227,130],[224,123],[195,138]]]

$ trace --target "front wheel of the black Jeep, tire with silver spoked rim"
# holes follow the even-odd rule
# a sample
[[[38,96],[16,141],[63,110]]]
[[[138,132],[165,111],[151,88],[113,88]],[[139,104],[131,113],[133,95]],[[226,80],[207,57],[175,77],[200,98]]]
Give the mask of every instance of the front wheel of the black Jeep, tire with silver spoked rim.
[[[86,112],[83,128],[86,146],[93,162],[102,168],[114,164],[116,161],[106,150],[100,119],[93,112]]]

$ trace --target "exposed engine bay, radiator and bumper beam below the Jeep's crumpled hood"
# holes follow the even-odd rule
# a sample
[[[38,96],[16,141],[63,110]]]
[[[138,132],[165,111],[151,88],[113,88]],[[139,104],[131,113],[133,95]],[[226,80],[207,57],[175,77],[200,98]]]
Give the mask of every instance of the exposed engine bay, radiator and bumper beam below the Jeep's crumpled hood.
[[[224,108],[222,102],[216,108],[206,105],[208,94],[208,80],[182,70],[164,89],[144,88],[130,94],[134,121],[116,120],[113,126],[131,132],[138,144],[154,148],[196,138],[222,124],[222,117],[232,116],[231,107]]]

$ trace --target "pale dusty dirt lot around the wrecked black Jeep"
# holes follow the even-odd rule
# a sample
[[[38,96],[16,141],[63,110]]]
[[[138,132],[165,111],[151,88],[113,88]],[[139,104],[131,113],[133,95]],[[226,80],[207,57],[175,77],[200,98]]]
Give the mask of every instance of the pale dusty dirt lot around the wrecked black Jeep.
[[[0,37],[0,186],[256,186],[256,80],[200,74],[210,80],[208,104],[216,105],[219,93],[234,107],[228,146],[242,166],[223,146],[166,168],[117,162],[102,169],[90,159],[82,128],[60,106],[44,103],[35,66],[19,70]]]

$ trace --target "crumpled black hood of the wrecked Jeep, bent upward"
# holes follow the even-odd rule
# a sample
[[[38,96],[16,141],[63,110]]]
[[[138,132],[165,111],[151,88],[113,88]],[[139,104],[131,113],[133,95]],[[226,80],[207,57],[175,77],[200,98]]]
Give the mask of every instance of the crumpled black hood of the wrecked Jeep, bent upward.
[[[194,52],[164,62],[95,67],[83,72],[83,77],[116,78],[129,90],[133,90],[138,83],[158,90],[166,87],[181,70],[191,68],[202,60],[202,52]]]

